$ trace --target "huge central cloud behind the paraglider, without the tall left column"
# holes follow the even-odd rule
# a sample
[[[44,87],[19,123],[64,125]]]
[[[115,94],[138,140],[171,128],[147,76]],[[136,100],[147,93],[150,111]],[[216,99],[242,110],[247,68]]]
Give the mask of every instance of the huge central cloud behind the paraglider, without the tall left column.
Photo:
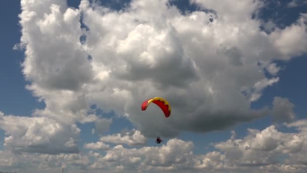
[[[93,88],[90,94],[92,102],[98,103],[101,108],[108,107],[121,114],[129,114],[129,120],[145,136],[152,137],[158,134],[172,136],[182,128],[210,130],[212,127],[203,128],[206,126],[203,124],[211,116],[217,117],[215,121],[225,121],[224,118],[244,121],[241,116],[234,118],[230,114],[224,115],[221,113],[224,110],[231,112],[240,108],[242,112],[234,111],[236,113],[232,114],[243,117],[245,114],[258,115],[245,120],[263,116],[257,111],[250,113],[250,101],[240,93],[244,89],[254,90],[250,96],[251,101],[256,101],[267,86],[279,80],[278,77],[270,79],[259,73],[257,62],[267,62],[275,58],[279,51],[270,43],[269,35],[258,30],[259,22],[246,18],[237,25],[235,21],[226,19],[228,13],[220,10],[218,14],[225,18],[214,18],[214,22],[210,23],[213,14],[193,12],[183,16],[175,8],[166,10],[165,3],[134,1],[131,5],[133,11],[112,11],[105,15],[89,8],[87,1],[81,3],[83,22],[91,28],[86,32],[85,48],[93,57],[93,69],[102,85],[99,88],[105,89],[98,92]],[[248,2],[240,5],[249,7]],[[251,9],[242,8],[246,11],[240,13],[248,16],[260,6],[261,3],[257,2]],[[159,7],[159,10],[152,15],[151,9],[155,7]],[[207,23],[202,22],[206,20]],[[97,35],[101,39],[97,40]],[[108,61],[111,57],[112,61]],[[278,67],[271,65],[269,70],[275,75]],[[99,95],[104,95],[106,99],[97,97]],[[149,108],[146,112],[140,112],[138,103],[158,95],[170,101],[176,120],[170,118],[166,122],[163,116],[155,116],[159,110]],[[186,114],[193,115],[195,119],[186,119]],[[158,128],[151,125],[152,121],[160,124]],[[212,126],[223,128],[231,124]]]

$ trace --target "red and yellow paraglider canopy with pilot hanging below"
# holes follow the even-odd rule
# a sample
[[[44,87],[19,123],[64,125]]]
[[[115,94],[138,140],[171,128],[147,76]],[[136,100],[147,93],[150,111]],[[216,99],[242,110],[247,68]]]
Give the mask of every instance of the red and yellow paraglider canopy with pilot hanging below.
[[[171,115],[172,109],[171,109],[171,106],[170,106],[169,102],[166,101],[165,99],[161,98],[161,97],[155,97],[155,98],[151,98],[151,99],[145,100],[142,103],[142,105],[141,105],[142,111],[146,110],[147,106],[151,102],[155,103],[156,105],[158,105],[161,108],[161,110],[163,111],[164,116],[166,118],[168,118]],[[163,142],[163,140],[161,140],[161,138],[158,136],[157,140],[156,140],[156,143],[160,144],[161,142]]]

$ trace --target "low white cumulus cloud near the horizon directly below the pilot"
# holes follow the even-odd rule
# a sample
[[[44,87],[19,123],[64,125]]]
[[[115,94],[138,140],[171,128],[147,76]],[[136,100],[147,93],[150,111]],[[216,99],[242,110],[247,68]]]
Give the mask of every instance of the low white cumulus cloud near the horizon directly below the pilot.
[[[122,145],[108,150],[105,156],[98,157],[91,168],[121,166],[126,169],[172,170],[176,166],[185,167],[192,163],[192,142],[172,139],[161,147],[142,147],[140,149],[126,149]],[[172,166],[173,165],[173,166]]]

